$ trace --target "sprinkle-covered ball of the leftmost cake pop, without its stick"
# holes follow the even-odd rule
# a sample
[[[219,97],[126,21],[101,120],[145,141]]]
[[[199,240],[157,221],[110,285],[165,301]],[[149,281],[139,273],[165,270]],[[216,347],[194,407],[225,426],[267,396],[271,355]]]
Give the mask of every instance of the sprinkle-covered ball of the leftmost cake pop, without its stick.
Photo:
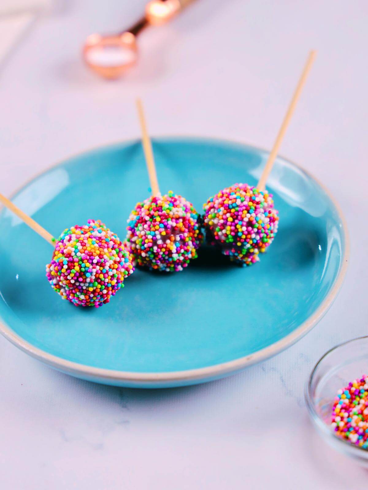
[[[134,271],[128,252],[101,221],[72,226],[55,242],[46,277],[56,293],[76,306],[108,303]]]

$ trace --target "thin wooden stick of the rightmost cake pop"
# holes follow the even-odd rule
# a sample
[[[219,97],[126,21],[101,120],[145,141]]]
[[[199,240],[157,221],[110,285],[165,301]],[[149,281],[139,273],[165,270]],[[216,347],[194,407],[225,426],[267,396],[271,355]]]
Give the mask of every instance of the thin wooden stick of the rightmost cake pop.
[[[295,110],[296,103],[297,103],[297,101],[298,101],[298,99],[300,97],[300,94],[301,94],[302,89],[304,87],[304,84],[305,84],[305,81],[307,79],[308,73],[309,73],[310,69],[312,68],[312,64],[313,64],[313,62],[315,60],[315,55],[316,55],[316,51],[314,51],[314,50],[309,53],[309,56],[308,56],[308,59],[307,59],[307,63],[305,64],[303,73],[300,76],[300,79],[299,79],[298,84],[296,86],[294,95],[292,96],[292,99],[290,101],[289,108],[288,108],[288,111],[287,111],[287,113],[285,115],[284,121],[281,124],[280,130],[279,130],[279,134],[277,135],[277,138],[275,140],[275,143],[273,144],[273,148],[271,150],[271,153],[269,154],[269,157],[268,157],[267,163],[266,163],[266,165],[264,167],[264,170],[263,170],[263,173],[261,175],[260,181],[258,182],[257,188],[260,191],[264,191],[264,188],[265,188],[265,185],[266,185],[266,181],[267,181],[268,175],[270,174],[270,172],[272,170],[272,165],[273,165],[273,163],[275,161],[275,158],[276,158],[277,153],[279,151],[281,142],[282,142],[282,140],[283,140],[283,138],[285,136],[286,130],[287,130],[288,126],[289,126],[289,122],[290,122],[291,116],[293,115],[293,112]]]

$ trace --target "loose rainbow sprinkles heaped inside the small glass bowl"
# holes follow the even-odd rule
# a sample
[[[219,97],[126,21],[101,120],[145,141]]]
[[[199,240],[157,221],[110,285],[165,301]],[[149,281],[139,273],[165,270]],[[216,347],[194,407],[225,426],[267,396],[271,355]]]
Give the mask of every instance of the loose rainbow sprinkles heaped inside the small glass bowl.
[[[340,438],[368,449],[368,376],[366,374],[338,391],[331,425]]]

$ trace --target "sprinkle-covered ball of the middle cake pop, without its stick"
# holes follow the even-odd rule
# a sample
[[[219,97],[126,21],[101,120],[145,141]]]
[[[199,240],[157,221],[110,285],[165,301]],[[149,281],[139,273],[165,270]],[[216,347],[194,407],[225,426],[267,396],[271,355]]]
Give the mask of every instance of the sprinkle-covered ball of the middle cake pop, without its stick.
[[[131,212],[125,245],[139,266],[183,270],[203,241],[199,218],[193,205],[172,191],[149,197]]]

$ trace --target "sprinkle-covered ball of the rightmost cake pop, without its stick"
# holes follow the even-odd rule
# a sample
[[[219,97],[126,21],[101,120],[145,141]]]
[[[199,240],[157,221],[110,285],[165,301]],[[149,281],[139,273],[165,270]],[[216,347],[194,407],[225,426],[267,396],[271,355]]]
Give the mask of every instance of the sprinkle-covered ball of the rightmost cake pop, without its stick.
[[[278,211],[272,194],[248,184],[234,184],[203,205],[207,240],[220,245],[222,253],[250,266],[272,243],[278,228]]]

